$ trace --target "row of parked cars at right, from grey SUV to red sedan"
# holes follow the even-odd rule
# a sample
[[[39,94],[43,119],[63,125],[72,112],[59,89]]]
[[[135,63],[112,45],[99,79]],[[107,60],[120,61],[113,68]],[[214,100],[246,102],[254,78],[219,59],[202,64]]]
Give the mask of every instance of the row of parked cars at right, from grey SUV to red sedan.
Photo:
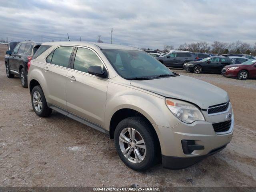
[[[247,79],[256,77],[256,58],[246,54],[208,54],[187,51],[172,51],[162,55],[150,52],[150,55],[167,67],[183,68],[194,73],[217,73],[226,77]]]

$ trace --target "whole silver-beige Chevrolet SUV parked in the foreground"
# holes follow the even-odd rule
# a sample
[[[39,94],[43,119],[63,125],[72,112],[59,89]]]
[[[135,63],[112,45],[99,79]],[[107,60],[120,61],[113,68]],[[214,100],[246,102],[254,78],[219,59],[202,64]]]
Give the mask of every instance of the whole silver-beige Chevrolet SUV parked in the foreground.
[[[176,74],[129,46],[47,42],[28,64],[34,112],[56,110],[114,139],[128,167],[181,169],[226,147],[234,115],[226,91]]]

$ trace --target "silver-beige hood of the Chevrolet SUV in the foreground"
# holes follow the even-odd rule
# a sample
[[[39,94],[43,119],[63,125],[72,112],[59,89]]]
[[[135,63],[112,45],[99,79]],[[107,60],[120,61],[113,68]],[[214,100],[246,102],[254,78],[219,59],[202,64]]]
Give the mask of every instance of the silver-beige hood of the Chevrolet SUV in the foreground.
[[[154,80],[130,81],[132,86],[164,97],[180,99],[198,105],[201,109],[228,102],[228,93],[210,83],[188,77],[177,76]]]

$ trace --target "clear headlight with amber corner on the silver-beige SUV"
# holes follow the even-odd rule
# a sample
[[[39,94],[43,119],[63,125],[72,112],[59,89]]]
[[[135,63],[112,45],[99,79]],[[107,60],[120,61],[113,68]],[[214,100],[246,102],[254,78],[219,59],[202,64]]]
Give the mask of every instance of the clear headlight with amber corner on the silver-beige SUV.
[[[188,102],[166,98],[165,103],[170,111],[185,123],[205,121],[202,112],[196,106]]]

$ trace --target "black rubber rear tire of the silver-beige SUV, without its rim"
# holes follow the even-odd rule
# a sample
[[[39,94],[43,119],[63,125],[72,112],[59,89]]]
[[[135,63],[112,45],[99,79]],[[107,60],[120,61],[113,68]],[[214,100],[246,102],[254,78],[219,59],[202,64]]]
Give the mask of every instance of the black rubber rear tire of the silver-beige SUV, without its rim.
[[[36,107],[34,106],[33,95],[34,95],[35,92],[38,92],[40,94],[40,98],[41,98],[41,102],[42,102],[42,107],[40,107],[41,110],[36,109]],[[43,92],[41,86],[39,86],[39,85],[35,86],[32,89],[31,103],[32,103],[32,107],[33,107],[34,112],[40,117],[46,117],[46,116],[49,116],[52,113],[52,109],[47,106],[47,102],[46,102],[46,99],[45,99],[45,96],[44,96],[44,92]]]

